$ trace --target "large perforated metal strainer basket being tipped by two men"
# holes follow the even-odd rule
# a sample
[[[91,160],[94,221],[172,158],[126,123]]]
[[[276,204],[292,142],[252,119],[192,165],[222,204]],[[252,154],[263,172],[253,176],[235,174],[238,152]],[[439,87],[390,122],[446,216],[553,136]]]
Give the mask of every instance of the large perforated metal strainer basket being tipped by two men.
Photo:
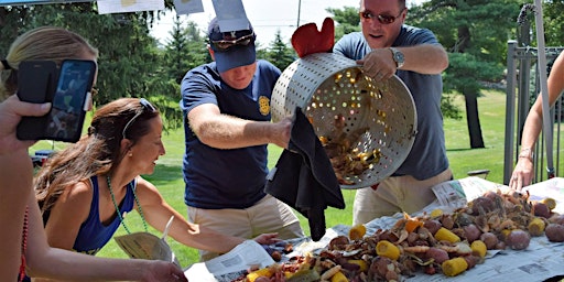
[[[390,176],[411,151],[417,116],[397,76],[377,83],[355,61],[333,53],[299,58],[272,94],[273,121],[301,107],[324,144],[341,188],[371,186]]]

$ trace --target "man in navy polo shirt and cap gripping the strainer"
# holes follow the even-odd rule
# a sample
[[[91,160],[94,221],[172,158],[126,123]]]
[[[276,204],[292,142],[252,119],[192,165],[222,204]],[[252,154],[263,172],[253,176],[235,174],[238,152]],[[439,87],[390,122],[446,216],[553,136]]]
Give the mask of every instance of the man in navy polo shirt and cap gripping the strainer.
[[[290,118],[271,122],[270,99],[281,72],[257,61],[250,23],[225,32],[214,19],[208,37],[215,62],[191,69],[181,86],[188,218],[243,238],[303,237],[293,210],[264,193],[267,145],[288,148],[292,126]],[[202,260],[215,256],[200,251]]]

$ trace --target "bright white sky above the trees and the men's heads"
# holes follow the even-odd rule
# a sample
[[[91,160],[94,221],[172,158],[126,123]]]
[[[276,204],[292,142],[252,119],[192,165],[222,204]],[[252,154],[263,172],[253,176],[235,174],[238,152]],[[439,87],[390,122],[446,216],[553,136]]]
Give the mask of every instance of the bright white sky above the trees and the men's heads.
[[[207,24],[215,17],[215,11],[212,0],[202,0],[202,2],[203,13],[181,14],[180,19],[183,22],[196,22],[202,31],[207,31]],[[422,0],[406,0],[408,7],[420,2]],[[327,8],[358,8],[359,0],[242,0],[242,4],[257,33],[257,41],[267,46],[274,40],[278,30],[281,32],[282,40],[289,42],[299,25],[315,22],[321,26],[323,20],[330,15],[326,11]],[[174,26],[174,17],[176,17],[175,12],[166,13],[152,30],[153,36],[163,44],[170,39],[169,33]]]

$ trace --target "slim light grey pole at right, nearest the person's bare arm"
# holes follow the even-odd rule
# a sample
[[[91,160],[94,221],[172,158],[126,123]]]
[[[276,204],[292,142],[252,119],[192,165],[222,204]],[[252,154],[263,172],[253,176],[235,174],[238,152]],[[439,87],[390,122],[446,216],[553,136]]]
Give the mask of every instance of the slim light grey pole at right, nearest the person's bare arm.
[[[542,123],[544,135],[546,137],[546,173],[547,177],[554,177],[554,166],[553,166],[553,158],[552,158],[552,121],[550,116],[550,105],[549,105],[549,87],[546,83],[546,54],[544,50],[544,26],[543,26],[543,15],[542,15],[542,1],[534,0],[534,22],[536,25],[536,43],[539,45],[538,50],[538,67],[540,74],[540,83],[541,83],[541,95],[542,95]]]

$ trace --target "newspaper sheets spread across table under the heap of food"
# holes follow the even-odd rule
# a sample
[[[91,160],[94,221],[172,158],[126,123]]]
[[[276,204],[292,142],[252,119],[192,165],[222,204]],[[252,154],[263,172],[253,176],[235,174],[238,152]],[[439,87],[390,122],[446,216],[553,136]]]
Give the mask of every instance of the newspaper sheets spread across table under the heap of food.
[[[538,186],[531,185],[527,187],[531,193],[531,198],[533,196],[539,198],[551,196],[556,199],[557,205],[561,205],[561,207],[564,206],[564,178],[553,178],[535,185]],[[417,216],[422,213],[430,213],[435,208],[452,208],[454,210],[458,207],[465,206],[467,202],[482,195],[487,191],[497,189],[505,192],[508,191],[509,187],[476,176],[445,182],[433,187],[437,199],[412,216]],[[378,229],[389,229],[402,217],[403,214],[398,213],[393,216],[376,218],[365,225],[367,234],[373,234]],[[285,256],[293,257],[308,252],[316,253],[317,251],[326,248],[330,239],[340,235],[347,236],[350,228],[350,226],[346,225],[337,225],[328,228],[325,236],[318,241],[312,241],[311,239],[304,238],[300,243],[294,245],[294,252]],[[237,250],[238,256],[241,256],[238,260],[246,261],[246,257],[248,256],[258,256],[254,252],[260,252],[260,256],[264,256],[265,260],[270,259],[270,256],[262,250],[262,247],[260,247],[260,250],[251,250],[250,248],[241,247]],[[224,256],[214,259],[217,261],[212,264],[219,263],[220,261],[228,261],[230,257],[223,258]],[[283,260],[288,259],[283,257]],[[270,263],[267,262],[262,265],[270,265]],[[477,264],[474,269],[467,270],[456,276],[451,278],[443,274],[429,275],[423,272],[417,272],[414,276],[406,278],[406,281],[545,281],[554,276],[564,275],[564,268],[562,265],[564,265],[564,243],[550,242],[543,235],[540,237],[533,237],[525,250],[488,250],[486,261],[484,263]],[[219,274],[223,273],[219,271],[216,273],[216,270],[212,265],[208,268],[204,263],[196,263],[185,271],[185,274],[191,282],[230,282],[243,274],[246,269],[248,269],[248,264],[246,263],[239,263],[239,265],[234,264],[229,270],[224,268],[224,273],[232,271],[232,275],[229,276]]]

